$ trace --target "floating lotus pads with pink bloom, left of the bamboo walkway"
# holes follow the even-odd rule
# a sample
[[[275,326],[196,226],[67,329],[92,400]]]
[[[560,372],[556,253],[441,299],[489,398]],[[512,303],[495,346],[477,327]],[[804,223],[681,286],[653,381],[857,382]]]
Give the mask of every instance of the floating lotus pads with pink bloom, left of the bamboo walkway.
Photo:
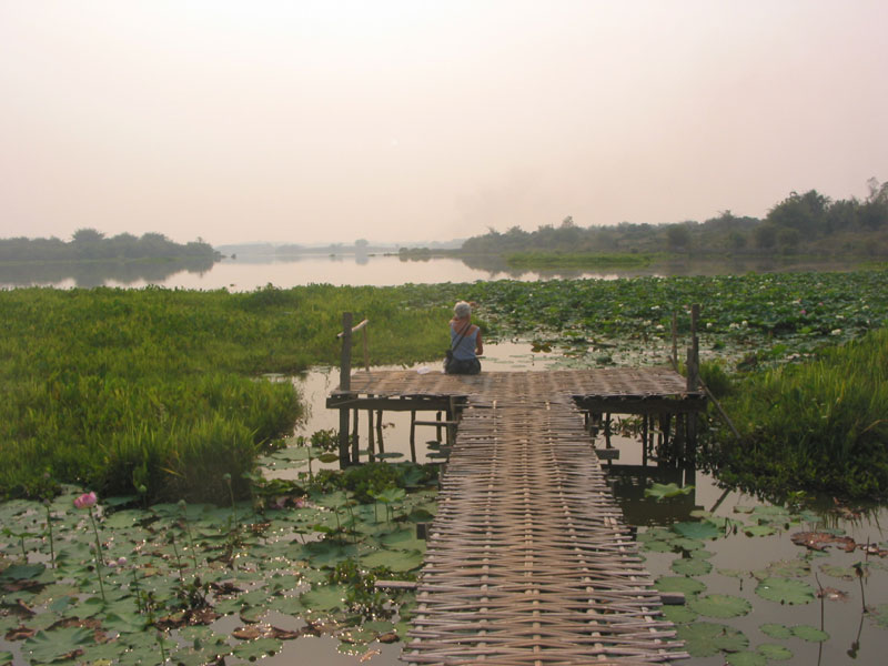
[[[278,456],[265,464],[299,466],[285,452]],[[366,466],[382,467],[383,490],[401,491],[389,519],[377,517],[372,500],[325,490],[305,473],[262,482],[251,487],[252,502],[222,506],[133,508],[99,498],[93,507],[94,495],[71,487],[43,505],[4,502],[0,523],[16,541],[0,546],[0,605],[27,613],[3,613],[0,630],[29,664],[117,663],[124,655],[133,664],[211,664],[255,660],[302,636],[333,636],[353,654],[402,639],[414,595],[374,583],[415,578],[425,551],[415,523],[433,517],[427,484],[437,472]],[[337,475],[343,487],[353,474]],[[272,613],[306,622],[297,630],[260,624]],[[226,617],[248,625],[218,633],[216,620]]]

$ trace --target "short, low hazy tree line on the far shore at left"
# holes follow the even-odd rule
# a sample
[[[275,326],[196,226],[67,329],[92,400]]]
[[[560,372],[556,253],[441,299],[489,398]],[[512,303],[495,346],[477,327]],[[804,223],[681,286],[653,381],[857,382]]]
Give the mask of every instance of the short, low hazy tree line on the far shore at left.
[[[0,261],[78,261],[139,259],[209,259],[221,255],[201,239],[181,244],[162,233],[135,236],[121,233],[112,238],[94,229],[79,229],[71,241],[49,239],[0,239]]]

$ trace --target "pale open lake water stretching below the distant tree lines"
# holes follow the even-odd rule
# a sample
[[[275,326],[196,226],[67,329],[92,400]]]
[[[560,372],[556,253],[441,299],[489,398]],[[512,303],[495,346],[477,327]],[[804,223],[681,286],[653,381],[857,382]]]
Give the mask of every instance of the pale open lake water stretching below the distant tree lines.
[[[60,289],[119,286],[139,289],[149,284],[169,289],[253,291],[268,284],[291,286],[329,283],[334,285],[386,286],[473,282],[475,280],[536,281],[553,278],[597,278],[615,280],[638,275],[743,274],[748,271],[846,270],[841,262],[788,260],[685,260],[677,259],[642,269],[626,270],[516,270],[500,258],[436,256],[427,260],[402,260],[396,255],[336,254],[299,255],[286,259],[239,256],[214,264],[182,262],[117,263],[67,262],[0,264],[0,289],[56,286]]]

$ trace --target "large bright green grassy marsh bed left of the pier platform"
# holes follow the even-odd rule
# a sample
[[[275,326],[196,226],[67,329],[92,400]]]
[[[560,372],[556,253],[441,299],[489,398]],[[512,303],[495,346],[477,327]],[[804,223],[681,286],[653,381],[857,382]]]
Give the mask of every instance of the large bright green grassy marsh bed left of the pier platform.
[[[292,432],[294,373],[335,364],[341,313],[371,321],[373,363],[446,345],[447,309],[393,290],[0,292],[0,493],[58,482],[103,495],[224,501],[262,446]],[[410,334],[406,334],[410,333]]]

